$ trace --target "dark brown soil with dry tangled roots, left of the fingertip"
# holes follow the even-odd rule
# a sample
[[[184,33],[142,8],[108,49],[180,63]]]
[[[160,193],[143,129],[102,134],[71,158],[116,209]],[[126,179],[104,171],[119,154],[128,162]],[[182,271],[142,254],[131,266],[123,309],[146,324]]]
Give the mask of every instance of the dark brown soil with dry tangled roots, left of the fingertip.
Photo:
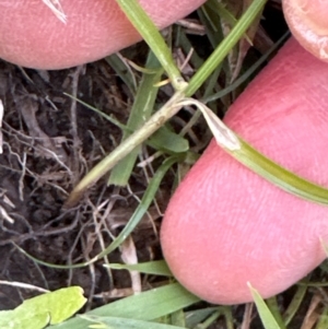
[[[55,265],[87,261],[119,233],[147,187],[144,171],[137,169],[127,188],[107,187],[103,179],[73,209],[65,207],[72,188],[120,142],[121,132],[63,93],[122,122],[128,118],[131,95],[105,60],[62,71],[25,70],[0,61],[0,309],[38,293],[9,281],[51,291],[80,285],[90,296],[87,308],[132,293],[127,271],[110,272],[101,263],[54,269],[17,248]],[[151,209],[151,220],[109,255],[109,262],[159,257],[157,224],[152,222],[159,211]]]

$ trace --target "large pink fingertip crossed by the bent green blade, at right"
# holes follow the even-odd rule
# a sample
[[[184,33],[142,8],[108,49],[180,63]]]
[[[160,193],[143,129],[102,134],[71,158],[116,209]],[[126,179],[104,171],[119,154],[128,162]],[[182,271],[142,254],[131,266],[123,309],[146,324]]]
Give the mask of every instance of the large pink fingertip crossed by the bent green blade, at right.
[[[263,154],[328,187],[328,64],[294,39],[230,108],[224,121]],[[175,278],[216,304],[263,297],[326,257],[328,208],[298,199],[237,163],[214,141],[172,198],[162,247]]]

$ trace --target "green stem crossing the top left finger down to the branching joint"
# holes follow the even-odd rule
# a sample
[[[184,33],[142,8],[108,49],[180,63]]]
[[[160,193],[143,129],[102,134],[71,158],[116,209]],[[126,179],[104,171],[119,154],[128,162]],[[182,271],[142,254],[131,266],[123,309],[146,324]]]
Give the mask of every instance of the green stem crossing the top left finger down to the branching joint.
[[[116,2],[155,54],[174,89],[177,91],[184,89],[186,83],[174,62],[169,48],[139,2],[137,0],[116,0]]]

